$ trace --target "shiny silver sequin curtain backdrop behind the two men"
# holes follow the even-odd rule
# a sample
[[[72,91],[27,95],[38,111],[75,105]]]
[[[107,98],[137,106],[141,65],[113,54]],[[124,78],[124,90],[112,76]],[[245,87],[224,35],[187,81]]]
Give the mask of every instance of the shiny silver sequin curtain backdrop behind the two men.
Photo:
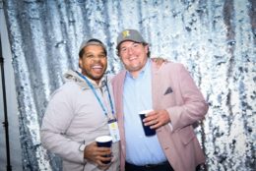
[[[5,0],[23,169],[61,168],[41,146],[39,127],[51,92],[78,68],[82,40],[107,44],[107,72],[115,74],[117,33],[136,28],[152,56],[188,68],[209,102],[196,129],[208,170],[255,170],[255,8],[254,0]]]

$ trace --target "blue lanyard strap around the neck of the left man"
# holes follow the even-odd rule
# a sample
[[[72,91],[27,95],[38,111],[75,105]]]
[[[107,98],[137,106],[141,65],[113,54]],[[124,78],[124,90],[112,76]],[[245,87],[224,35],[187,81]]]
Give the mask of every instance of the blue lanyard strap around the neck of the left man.
[[[88,80],[84,75],[82,75],[81,73],[79,73],[79,72],[77,72],[77,71],[76,71],[76,73],[77,73],[80,77],[82,77],[82,78],[86,81],[86,83],[91,87],[91,89],[93,90],[93,92],[94,92],[95,95],[96,95],[96,99],[97,99],[98,103],[100,104],[100,106],[101,106],[101,108],[102,108],[104,114],[107,116],[106,109],[105,109],[105,107],[103,106],[101,100],[99,99],[99,97],[98,97],[98,95],[97,95],[97,93],[96,93],[96,88],[94,87],[94,85],[92,85],[92,84],[89,82],[89,80]],[[112,99],[111,99],[111,96],[110,96],[110,92],[109,92],[107,83],[105,83],[105,86],[106,86],[106,90],[107,90],[107,94],[108,94],[108,99],[109,99],[109,102],[110,102],[110,107],[111,107],[112,115],[114,115],[114,107],[113,107],[113,103],[112,103]]]

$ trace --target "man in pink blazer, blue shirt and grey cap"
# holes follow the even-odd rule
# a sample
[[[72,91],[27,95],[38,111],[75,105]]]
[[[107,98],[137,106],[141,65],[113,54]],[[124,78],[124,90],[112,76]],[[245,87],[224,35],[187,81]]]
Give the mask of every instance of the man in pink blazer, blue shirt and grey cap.
[[[117,37],[117,52],[126,70],[112,80],[121,138],[121,171],[194,171],[205,162],[193,125],[208,111],[202,93],[181,64],[159,67],[149,60],[149,46],[135,29]],[[138,113],[149,112],[144,125]]]

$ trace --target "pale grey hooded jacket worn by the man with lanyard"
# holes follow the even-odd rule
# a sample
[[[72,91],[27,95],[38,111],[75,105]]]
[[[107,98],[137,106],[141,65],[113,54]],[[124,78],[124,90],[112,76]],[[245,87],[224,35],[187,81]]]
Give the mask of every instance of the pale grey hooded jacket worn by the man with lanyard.
[[[107,77],[99,85],[92,82],[107,108],[106,117],[94,92],[76,72],[69,71],[64,77],[66,83],[52,94],[42,120],[42,145],[63,159],[64,171],[97,171],[94,163],[84,159],[79,147],[82,143],[95,142],[98,136],[109,135],[107,118],[112,114],[105,83],[112,96],[111,84]],[[108,171],[119,170],[118,147],[118,142],[112,144],[113,163]]]

